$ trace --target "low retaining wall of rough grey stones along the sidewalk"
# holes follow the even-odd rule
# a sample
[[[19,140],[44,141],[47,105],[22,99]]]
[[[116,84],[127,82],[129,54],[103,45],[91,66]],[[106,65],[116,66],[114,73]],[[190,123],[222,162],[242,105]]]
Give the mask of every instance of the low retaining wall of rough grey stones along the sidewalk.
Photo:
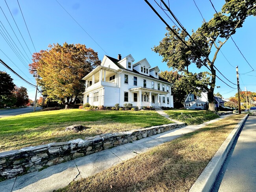
[[[47,166],[113,148],[185,125],[167,124],[2,152],[0,153],[0,177],[10,179],[20,174],[41,170]]]

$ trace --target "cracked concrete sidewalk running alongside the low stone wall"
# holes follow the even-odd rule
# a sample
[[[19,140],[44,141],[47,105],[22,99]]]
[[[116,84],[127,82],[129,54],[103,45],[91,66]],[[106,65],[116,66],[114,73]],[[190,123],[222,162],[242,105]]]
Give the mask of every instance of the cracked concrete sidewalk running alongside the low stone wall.
[[[152,135],[132,143],[50,166],[40,172],[32,172],[2,181],[0,182],[0,192],[50,192],[62,188],[72,181],[95,175],[152,147],[174,140],[183,134],[200,129],[230,115],[223,115],[218,119],[197,126],[184,126]]]

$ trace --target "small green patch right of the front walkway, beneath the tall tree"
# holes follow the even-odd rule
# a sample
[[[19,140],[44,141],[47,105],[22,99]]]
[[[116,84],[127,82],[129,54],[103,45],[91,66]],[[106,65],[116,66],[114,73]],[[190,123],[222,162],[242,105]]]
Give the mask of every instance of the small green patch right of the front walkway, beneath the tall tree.
[[[165,113],[167,113],[171,119],[185,122],[187,125],[198,125],[219,118],[219,115],[211,111],[202,110],[169,110],[165,111]]]

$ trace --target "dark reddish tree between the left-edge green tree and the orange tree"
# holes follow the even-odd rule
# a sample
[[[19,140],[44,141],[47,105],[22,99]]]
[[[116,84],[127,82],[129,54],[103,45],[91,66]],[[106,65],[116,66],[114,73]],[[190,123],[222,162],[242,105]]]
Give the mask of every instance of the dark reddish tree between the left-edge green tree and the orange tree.
[[[17,107],[26,106],[29,103],[28,92],[25,87],[16,86],[13,94],[17,100],[15,103]]]

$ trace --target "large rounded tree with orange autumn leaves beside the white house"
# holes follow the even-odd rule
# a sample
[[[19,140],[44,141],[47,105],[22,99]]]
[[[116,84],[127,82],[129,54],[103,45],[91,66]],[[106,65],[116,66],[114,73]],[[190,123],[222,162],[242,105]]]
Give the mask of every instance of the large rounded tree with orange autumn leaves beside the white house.
[[[50,44],[49,49],[32,55],[30,73],[38,75],[38,84],[50,100],[72,104],[82,94],[91,70],[100,65],[98,53],[83,44]]]

